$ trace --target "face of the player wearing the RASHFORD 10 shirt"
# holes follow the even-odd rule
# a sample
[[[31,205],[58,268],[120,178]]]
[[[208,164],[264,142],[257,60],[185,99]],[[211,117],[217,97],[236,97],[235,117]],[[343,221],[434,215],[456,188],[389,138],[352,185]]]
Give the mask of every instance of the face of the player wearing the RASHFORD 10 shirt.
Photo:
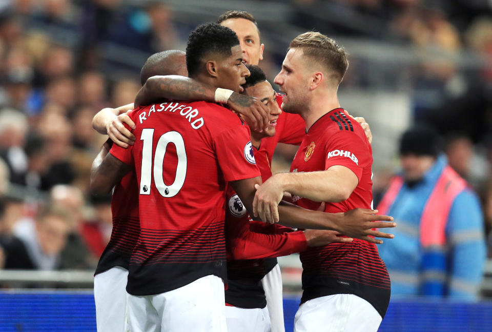
[[[241,92],[243,90],[241,85],[246,82],[245,77],[250,75],[250,71],[242,61],[241,46],[233,46],[231,51],[231,56],[217,64],[217,86]]]

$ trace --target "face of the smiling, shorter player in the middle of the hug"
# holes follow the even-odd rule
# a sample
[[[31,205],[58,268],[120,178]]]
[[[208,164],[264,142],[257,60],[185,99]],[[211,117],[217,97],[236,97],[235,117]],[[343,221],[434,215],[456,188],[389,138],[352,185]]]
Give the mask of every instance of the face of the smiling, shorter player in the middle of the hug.
[[[254,133],[257,136],[259,135],[260,139],[263,137],[271,137],[275,135],[275,128],[277,126],[278,116],[280,115],[280,113],[282,113],[282,110],[280,109],[280,107],[278,107],[276,93],[275,90],[272,88],[270,82],[264,81],[250,86],[246,88],[246,93],[250,96],[257,97],[270,112],[268,127],[261,133],[257,131],[254,131]]]

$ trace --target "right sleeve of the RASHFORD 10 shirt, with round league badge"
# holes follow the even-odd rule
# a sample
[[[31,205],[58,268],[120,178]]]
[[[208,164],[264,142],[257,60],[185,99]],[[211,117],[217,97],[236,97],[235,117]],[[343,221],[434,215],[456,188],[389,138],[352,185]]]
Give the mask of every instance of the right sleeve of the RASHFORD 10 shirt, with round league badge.
[[[260,175],[247,126],[237,126],[218,134],[215,148],[226,181],[251,179]]]

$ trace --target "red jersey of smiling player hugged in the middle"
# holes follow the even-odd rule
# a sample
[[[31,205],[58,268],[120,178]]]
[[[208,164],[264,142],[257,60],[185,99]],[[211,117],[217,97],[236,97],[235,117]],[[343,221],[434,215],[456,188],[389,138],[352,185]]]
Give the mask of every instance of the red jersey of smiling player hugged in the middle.
[[[263,181],[272,176],[267,153],[253,147]],[[231,186],[227,190],[226,244],[228,288],[226,303],[240,308],[267,305],[261,279],[276,265],[265,258],[290,255],[307,248],[302,231],[252,221]],[[263,226],[264,225],[264,226]]]

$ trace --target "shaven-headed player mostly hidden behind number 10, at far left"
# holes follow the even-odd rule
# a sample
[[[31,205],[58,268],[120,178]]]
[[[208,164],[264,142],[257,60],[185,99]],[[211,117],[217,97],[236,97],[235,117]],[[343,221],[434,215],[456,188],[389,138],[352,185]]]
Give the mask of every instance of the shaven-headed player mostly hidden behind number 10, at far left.
[[[140,73],[142,84],[156,73],[188,75],[185,52],[171,50],[151,55]],[[103,126],[101,130],[105,128]],[[98,166],[109,153],[111,145],[111,140],[103,145],[93,162],[92,172],[98,171]],[[140,230],[136,181],[135,172],[129,172],[114,187],[111,199],[111,239],[94,273],[94,300],[99,332],[122,331],[125,325],[128,265]]]

